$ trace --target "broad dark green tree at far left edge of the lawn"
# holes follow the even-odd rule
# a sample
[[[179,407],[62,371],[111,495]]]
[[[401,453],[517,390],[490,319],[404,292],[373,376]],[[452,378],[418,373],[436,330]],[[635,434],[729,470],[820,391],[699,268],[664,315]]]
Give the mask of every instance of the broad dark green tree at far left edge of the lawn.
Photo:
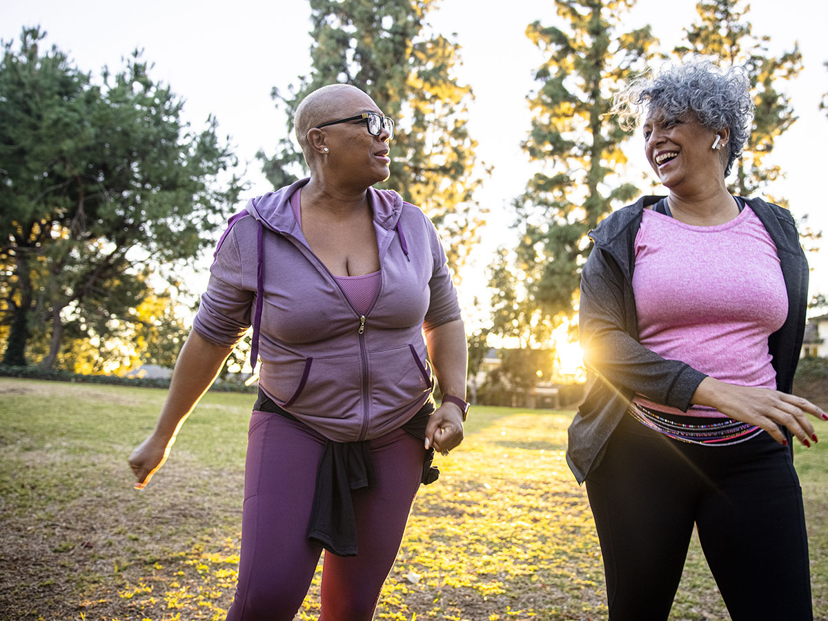
[[[24,29],[17,49],[3,43],[0,64],[4,362],[28,353],[71,368],[84,339],[89,350],[147,335],[137,309],[152,295],[152,266],[195,262],[240,185],[215,119],[190,129],[183,101],[139,52],[95,84],[55,46],[44,50],[45,37]]]

